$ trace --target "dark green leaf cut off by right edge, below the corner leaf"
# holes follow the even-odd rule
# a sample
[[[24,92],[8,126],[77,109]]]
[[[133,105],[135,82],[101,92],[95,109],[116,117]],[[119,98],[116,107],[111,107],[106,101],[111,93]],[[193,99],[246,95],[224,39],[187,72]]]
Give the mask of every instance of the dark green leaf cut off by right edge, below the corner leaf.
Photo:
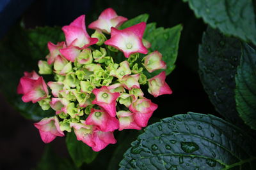
[[[256,130],[256,51],[246,43],[236,74],[236,106],[245,124]]]

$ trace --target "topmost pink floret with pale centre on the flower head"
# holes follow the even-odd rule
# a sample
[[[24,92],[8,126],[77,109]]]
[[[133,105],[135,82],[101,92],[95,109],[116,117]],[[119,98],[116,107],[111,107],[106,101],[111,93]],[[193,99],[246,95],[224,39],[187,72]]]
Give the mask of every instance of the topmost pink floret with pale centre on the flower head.
[[[88,27],[90,29],[99,29],[109,34],[111,27],[119,27],[126,20],[127,18],[116,15],[116,12],[112,8],[108,8],[102,11],[98,20],[92,22]]]

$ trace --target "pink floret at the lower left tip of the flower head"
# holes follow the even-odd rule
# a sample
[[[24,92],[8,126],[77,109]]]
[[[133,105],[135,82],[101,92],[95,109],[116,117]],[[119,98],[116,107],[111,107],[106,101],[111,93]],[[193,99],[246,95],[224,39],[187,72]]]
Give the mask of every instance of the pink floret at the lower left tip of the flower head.
[[[60,130],[60,124],[57,117],[43,118],[40,122],[34,124],[39,130],[44,143],[50,143],[56,136],[64,136]]]

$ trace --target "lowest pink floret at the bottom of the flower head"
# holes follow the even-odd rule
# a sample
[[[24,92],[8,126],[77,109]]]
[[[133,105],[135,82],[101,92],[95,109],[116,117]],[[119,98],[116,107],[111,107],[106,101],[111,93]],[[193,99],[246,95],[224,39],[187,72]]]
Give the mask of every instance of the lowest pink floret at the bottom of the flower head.
[[[81,122],[82,124],[70,123],[70,127],[74,127],[77,140],[91,146],[95,152],[104,149],[109,143],[116,143],[113,132],[102,132],[94,125],[86,125],[84,121]]]

